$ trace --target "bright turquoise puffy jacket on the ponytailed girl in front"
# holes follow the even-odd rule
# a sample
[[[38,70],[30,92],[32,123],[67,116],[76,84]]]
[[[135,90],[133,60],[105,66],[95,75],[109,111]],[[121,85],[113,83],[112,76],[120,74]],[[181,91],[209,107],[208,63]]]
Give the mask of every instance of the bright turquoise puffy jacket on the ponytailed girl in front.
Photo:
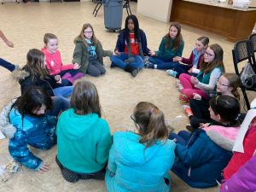
[[[169,192],[168,173],[174,163],[176,144],[158,141],[149,148],[139,143],[140,136],[128,131],[113,135],[105,182],[108,192]],[[165,183],[169,179],[169,185]]]

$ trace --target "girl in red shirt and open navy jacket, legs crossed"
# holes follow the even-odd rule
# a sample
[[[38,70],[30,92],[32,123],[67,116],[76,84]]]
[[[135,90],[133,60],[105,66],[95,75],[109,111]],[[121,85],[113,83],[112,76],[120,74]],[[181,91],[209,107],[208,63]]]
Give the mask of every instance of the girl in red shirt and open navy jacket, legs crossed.
[[[125,29],[118,37],[114,54],[110,57],[111,67],[120,67],[125,72],[136,77],[139,69],[143,68],[143,57],[149,53],[145,32],[140,29],[137,17],[128,15],[125,19]]]

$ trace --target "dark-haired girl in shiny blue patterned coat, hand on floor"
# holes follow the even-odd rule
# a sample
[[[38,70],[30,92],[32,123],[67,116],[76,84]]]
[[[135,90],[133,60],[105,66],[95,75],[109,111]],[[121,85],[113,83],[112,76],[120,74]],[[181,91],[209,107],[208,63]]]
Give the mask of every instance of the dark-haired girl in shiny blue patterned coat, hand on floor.
[[[30,87],[13,103],[10,112],[5,111],[9,113],[9,130],[13,130],[9,134],[9,153],[21,165],[38,172],[48,171],[49,166],[32,154],[27,145],[49,149],[55,144],[56,117],[46,113],[52,108],[52,100],[45,90]]]

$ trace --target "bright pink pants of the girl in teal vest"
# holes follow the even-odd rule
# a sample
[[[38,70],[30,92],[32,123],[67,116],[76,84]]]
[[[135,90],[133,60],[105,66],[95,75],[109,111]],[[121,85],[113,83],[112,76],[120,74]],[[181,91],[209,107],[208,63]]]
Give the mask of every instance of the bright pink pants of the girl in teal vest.
[[[183,85],[183,90],[181,90],[181,92],[185,96],[188,96],[189,99],[193,99],[195,93],[202,97],[207,98],[208,96],[206,94],[206,91],[196,88],[195,84],[192,84],[190,79],[191,79],[191,76],[186,73],[182,73],[179,76],[180,83]]]

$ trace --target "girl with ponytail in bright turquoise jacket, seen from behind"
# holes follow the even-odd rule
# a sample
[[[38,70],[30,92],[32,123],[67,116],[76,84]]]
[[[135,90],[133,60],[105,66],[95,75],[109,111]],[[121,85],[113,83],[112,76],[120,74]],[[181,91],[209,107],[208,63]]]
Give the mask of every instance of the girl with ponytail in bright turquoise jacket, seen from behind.
[[[139,102],[131,119],[138,133],[113,135],[105,177],[108,192],[170,191],[175,143],[167,139],[164,114],[150,102]]]

